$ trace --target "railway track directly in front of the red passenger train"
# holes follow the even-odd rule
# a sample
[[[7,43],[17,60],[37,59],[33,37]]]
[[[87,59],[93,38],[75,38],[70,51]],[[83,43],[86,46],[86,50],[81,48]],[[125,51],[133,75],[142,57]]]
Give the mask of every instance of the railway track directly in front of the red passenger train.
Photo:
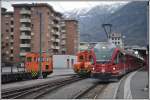
[[[91,87],[86,88],[76,94],[73,99],[97,99],[97,96],[103,92],[103,90],[108,86],[107,84],[96,83]]]

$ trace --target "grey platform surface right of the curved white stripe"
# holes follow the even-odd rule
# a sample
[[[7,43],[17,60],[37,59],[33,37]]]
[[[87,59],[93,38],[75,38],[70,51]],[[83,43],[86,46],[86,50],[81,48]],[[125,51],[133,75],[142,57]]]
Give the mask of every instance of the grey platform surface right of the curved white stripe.
[[[139,70],[133,75],[130,82],[132,99],[148,99],[148,72],[144,69]]]

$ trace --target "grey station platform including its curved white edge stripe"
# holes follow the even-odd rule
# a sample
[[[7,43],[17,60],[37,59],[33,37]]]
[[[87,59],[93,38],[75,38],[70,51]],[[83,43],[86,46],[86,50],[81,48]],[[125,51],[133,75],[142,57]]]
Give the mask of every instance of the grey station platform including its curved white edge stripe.
[[[117,99],[148,99],[148,71],[139,69],[122,79],[118,88]]]

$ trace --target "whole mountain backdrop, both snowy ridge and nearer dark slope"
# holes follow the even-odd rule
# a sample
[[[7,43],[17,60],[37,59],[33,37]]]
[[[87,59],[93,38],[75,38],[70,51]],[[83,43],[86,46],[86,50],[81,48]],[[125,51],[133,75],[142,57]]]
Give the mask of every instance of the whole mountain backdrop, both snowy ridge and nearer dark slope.
[[[121,32],[127,45],[143,46],[147,33],[146,6],[146,1],[99,5],[90,9],[74,9],[66,12],[65,16],[79,21],[80,41],[106,41],[102,24],[111,23],[112,31]]]

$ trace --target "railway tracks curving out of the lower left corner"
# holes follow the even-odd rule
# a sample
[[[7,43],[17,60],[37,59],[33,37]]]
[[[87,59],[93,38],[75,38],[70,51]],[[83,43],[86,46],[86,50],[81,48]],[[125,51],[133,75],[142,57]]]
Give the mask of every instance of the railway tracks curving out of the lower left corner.
[[[82,79],[85,78],[79,76],[71,76],[51,82],[46,82],[36,86],[22,87],[5,91],[2,90],[2,99],[37,99],[48,92]]]

